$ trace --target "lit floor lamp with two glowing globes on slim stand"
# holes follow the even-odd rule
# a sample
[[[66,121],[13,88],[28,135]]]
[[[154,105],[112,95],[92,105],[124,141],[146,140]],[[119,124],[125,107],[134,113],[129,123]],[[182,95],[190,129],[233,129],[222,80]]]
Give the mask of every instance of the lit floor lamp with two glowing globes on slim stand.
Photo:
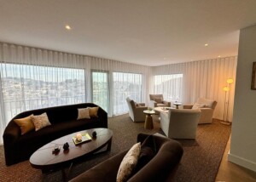
[[[229,86],[225,86],[223,88],[225,92],[225,99],[224,99],[224,115],[223,115],[223,124],[230,125],[230,121],[228,120],[229,117],[229,104],[230,104],[230,84],[233,83],[234,80],[232,78],[227,79],[227,83]],[[228,100],[227,100],[227,94],[228,94]]]

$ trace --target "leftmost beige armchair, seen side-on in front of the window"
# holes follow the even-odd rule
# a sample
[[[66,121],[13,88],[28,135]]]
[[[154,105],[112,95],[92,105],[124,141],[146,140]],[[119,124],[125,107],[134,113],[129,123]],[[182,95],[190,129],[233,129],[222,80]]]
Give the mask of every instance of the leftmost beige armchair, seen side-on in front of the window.
[[[129,116],[133,122],[145,122],[144,110],[147,110],[148,107],[144,103],[136,103],[134,100],[131,100],[129,97],[126,98],[127,105],[129,107]]]

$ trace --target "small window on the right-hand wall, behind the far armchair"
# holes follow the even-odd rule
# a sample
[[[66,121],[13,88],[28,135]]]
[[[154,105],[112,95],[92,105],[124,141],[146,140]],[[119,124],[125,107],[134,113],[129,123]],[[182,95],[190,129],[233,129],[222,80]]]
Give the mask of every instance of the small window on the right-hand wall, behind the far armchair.
[[[183,74],[154,75],[154,94],[163,94],[167,100],[183,100]]]

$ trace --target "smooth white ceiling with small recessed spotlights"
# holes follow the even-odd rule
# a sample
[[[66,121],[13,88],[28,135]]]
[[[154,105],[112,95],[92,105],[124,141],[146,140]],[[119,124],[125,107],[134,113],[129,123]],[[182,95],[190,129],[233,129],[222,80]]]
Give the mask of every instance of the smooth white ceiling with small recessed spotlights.
[[[0,42],[151,66],[207,60],[237,55],[255,9],[255,0],[0,0]]]

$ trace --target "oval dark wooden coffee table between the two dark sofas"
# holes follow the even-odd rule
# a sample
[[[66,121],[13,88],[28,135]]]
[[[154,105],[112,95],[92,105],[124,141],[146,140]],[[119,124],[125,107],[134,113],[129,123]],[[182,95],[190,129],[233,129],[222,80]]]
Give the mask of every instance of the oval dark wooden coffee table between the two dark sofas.
[[[92,137],[92,133],[94,131],[96,132],[96,138]],[[86,143],[75,145],[73,142],[73,137],[78,133],[88,133],[92,139]],[[97,151],[101,150],[106,145],[106,151],[110,151],[112,136],[113,132],[108,128],[92,128],[73,134],[67,134],[66,136],[55,139],[49,142],[47,145],[39,148],[38,151],[35,151],[32,154],[29,162],[31,163],[32,168],[41,169],[43,173],[44,171],[60,168],[62,171],[62,177],[64,180],[66,180],[69,171],[66,175],[64,168],[67,167],[67,165],[70,165],[71,168],[73,162],[79,161],[80,158],[84,156],[90,156],[99,153]],[[64,151],[63,145],[66,142],[69,145],[69,149]],[[52,149],[55,147],[55,145],[61,146],[61,150],[59,152],[52,152]]]

